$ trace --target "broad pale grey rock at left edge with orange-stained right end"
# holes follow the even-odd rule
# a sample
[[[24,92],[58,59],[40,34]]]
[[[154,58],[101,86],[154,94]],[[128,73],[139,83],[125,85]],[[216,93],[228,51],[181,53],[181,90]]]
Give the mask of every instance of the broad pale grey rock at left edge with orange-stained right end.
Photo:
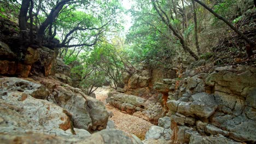
[[[23,92],[7,92],[0,97],[0,133],[64,134],[72,128],[65,109],[49,101],[35,99]]]

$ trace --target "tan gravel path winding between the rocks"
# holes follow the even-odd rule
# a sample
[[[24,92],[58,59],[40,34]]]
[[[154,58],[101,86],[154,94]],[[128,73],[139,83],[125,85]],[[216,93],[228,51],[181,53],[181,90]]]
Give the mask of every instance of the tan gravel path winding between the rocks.
[[[98,88],[95,91],[96,99],[101,100],[106,105],[106,98],[108,97],[108,88]],[[134,134],[143,140],[148,129],[153,125],[142,118],[138,118],[127,113],[123,113],[113,106],[106,105],[108,111],[112,111],[114,116],[110,118],[115,122],[115,128]]]

